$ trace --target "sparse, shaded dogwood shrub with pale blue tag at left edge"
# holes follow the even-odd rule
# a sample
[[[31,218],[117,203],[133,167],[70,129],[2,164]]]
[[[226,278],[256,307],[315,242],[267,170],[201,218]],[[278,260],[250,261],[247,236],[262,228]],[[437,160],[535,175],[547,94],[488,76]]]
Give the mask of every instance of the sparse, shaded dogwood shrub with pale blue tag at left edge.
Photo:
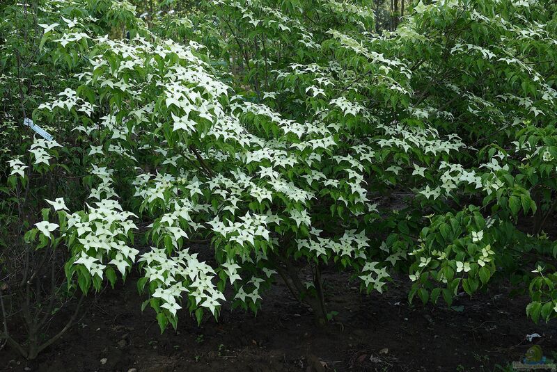
[[[8,343],[33,359],[84,314],[84,293],[79,293],[77,281],[68,286],[64,266],[72,253],[79,257],[78,250],[67,249],[68,238],[70,243],[74,240],[72,220],[77,218],[67,213],[84,208],[81,180],[91,168],[81,161],[81,143],[71,135],[67,118],[57,118],[55,127],[30,120],[40,102],[58,92],[68,95],[66,89],[78,81],[72,74],[85,61],[79,52],[58,53],[62,50],[41,41],[63,22],[79,26],[81,34],[68,37],[79,43],[115,34],[114,27],[118,30],[121,24],[139,30],[141,22],[137,24],[125,6],[109,1],[8,0],[0,4],[0,14],[0,348]],[[80,110],[88,112],[88,107],[82,104]],[[33,138],[34,130],[48,140]],[[98,225],[100,218],[95,219]],[[95,231],[93,218],[91,224]],[[109,225],[102,223],[106,229]],[[26,233],[31,227],[36,229]],[[102,234],[107,233],[98,231],[106,241]],[[110,234],[110,240],[120,241],[118,234]],[[86,279],[80,278],[79,285],[85,288]],[[100,288],[100,278],[94,282]],[[54,318],[62,322],[59,329],[51,326]]]

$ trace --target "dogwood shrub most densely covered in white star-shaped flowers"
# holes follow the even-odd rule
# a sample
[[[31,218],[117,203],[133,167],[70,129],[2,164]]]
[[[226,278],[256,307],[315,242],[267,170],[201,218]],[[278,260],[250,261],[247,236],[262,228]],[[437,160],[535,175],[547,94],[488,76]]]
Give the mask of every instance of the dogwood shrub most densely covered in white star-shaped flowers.
[[[339,208],[334,201],[340,200],[340,208],[347,209],[338,209],[343,218],[372,209],[363,188],[369,145],[359,143],[355,156],[334,156],[345,147],[336,139],[339,128],[322,121],[302,125],[263,104],[244,101],[210,74],[195,42],[182,46],[141,37],[93,42],[91,68],[81,72],[83,85],[77,89],[97,92],[95,101],[85,102],[68,89],[61,98],[41,104],[35,117],[43,120],[68,108],[79,116],[81,102],[88,108],[109,102],[112,109],[98,114],[100,122],[86,113],[74,128],[88,136],[88,156],[95,159],[92,173],[97,177],[89,197],[113,204],[109,198],[118,195],[113,164],[118,163],[118,172],[133,186],[132,202],[137,200],[137,210],[153,221],[148,238],[154,246],[140,256],[145,277],[139,288],[148,288],[162,326],[166,320],[175,325],[181,307],[195,310],[198,317],[203,308],[217,315],[226,282],[235,287],[235,299],[255,310],[260,284],[282,270],[277,260],[292,254],[342,260],[343,266],[366,264],[368,238],[363,227],[356,231],[357,219],[347,219],[340,232],[328,232],[336,236],[321,236],[323,229],[317,229],[320,222],[312,221],[311,211],[323,209],[313,202],[319,194],[321,201],[332,199],[331,207]],[[350,165],[337,165],[329,175],[320,171],[332,162]],[[146,172],[147,167],[156,167],[156,174]],[[349,178],[340,182],[340,172],[348,172]],[[111,211],[114,218],[129,216]],[[125,275],[130,257],[120,246],[99,249],[97,236],[82,227],[74,241],[79,241],[81,256],[73,264],[85,266],[93,283],[111,266],[92,262],[108,261]],[[189,236],[212,237],[219,267],[189,254]],[[368,284],[376,282],[380,288],[387,276],[384,270],[380,275],[374,281],[368,273]]]

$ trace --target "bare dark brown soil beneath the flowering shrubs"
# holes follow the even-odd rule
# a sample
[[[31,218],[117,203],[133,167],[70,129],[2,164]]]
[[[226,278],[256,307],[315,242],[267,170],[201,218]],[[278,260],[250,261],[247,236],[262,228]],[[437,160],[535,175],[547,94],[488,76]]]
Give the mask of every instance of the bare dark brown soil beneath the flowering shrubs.
[[[533,343],[548,359],[557,350],[556,323],[532,323],[528,298],[509,298],[504,285],[473,299],[462,296],[448,309],[409,305],[405,280],[383,295],[365,296],[343,273],[324,278],[329,310],[338,312],[327,327],[315,327],[278,282],[257,316],[223,309],[218,322],[207,318],[198,327],[182,314],[178,332],[160,334],[152,310],[141,313],[143,299],[130,277],[91,300],[79,325],[35,361],[0,351],[0,370],[499,371],[496,364],[520,360]],[[526,334],[533,333],[542,337],[528,342]]]

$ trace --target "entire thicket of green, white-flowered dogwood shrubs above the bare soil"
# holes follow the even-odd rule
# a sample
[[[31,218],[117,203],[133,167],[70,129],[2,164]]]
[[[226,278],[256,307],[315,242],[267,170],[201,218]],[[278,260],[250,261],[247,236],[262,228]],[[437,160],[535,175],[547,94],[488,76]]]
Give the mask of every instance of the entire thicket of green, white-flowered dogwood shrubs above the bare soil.
[[[366,1],[137,6],[0,8],[0,337],[19,353],[129,277],[161,331],[257,313],[277,281],[334,322],[323,270],[362,296],[405,275],[409,302],[448,307],[508,280],[534,322],[557,316],[553,1],[419,1],[380,32]]]

